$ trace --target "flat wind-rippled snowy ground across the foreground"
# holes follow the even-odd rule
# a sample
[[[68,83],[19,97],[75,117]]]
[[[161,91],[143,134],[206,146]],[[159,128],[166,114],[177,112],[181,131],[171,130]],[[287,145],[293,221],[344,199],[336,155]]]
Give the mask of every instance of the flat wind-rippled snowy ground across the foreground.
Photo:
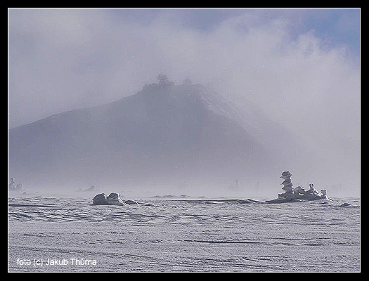
[[[119,207],[9,196],[8,271],[360,271],[356,198],[336,198],[351,204],[339,207],[151,197]]]

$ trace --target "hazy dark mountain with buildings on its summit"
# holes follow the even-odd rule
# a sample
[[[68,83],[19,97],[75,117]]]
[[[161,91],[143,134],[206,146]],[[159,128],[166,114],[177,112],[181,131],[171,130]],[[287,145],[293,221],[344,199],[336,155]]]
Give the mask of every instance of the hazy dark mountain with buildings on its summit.
[[[280,162],[278,148],[292,148],[254,106],[240,110],[189,79],[158,79],[133,96],[10,129],[9,175],[37,185],[254,181]]]

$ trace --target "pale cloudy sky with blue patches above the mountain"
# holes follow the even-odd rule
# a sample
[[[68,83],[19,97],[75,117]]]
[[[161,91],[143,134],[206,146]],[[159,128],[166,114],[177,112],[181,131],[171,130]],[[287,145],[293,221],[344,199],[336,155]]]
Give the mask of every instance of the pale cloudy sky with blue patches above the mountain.
[[[8,126],[131,96],[164,73],[248,100],[356,165],[359,55],[357,8],[11,8]]]

